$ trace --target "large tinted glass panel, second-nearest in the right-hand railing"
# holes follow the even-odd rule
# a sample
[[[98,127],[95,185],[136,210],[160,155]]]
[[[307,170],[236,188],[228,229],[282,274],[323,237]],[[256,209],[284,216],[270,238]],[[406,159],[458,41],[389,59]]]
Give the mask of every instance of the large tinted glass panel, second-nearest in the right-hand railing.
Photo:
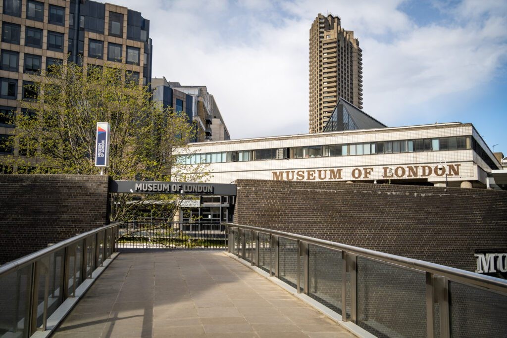
[[[426,337],[426,277],[357,257],[357,325],[377,337]]]

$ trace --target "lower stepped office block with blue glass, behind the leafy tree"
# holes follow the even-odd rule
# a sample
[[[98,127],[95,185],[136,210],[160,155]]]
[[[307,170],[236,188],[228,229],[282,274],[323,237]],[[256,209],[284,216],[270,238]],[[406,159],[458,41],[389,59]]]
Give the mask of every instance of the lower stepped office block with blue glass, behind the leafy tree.
[[[194,123],[196,137],[192,142],[220,141],[230,139],[220,109],[206,86],[182,86],[179,82],[152,79],[153,99],[164,108],[183,111]]]

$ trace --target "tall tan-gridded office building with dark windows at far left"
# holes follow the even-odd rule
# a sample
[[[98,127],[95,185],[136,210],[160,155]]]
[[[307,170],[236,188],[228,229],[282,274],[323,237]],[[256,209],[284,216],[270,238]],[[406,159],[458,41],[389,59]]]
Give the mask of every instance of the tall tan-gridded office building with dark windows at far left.
[[[0,3],[0,154],[20,156],[6,145],[14,114],[29,99],[26,85],[52,64],[84,68],[108,63],[126,69],[146,85],[151,79],[150,21],[141,13],[87,0],[3,0]],[[3,168],[2,171],[12,169]]]

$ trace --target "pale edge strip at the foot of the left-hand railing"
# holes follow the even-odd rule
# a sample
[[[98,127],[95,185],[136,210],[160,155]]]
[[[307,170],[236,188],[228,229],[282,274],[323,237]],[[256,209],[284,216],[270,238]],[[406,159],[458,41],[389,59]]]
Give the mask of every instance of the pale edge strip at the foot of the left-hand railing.
[[[104,270],[111,264],[113,260],[120,252],[114,252],[111,254],[111,258],[107,258],[104,260],[102,266],[98,267],[92,272],[92,277],[87,278],[80,286],[76,289],[76,297],[67,298],[65,301],[58,307],[58,309],[53,312],[53,314],[48,318],[47,321],[47,329],[45,331],[35,331],[30,338],[46,338],[51,335],[51,333],[58,327],[58,325],[65,319],[68,313],[78,304],[79,299],[88,291],[88,289],[93,285],[93,283],[97,280],[97,278],[104,272]]]

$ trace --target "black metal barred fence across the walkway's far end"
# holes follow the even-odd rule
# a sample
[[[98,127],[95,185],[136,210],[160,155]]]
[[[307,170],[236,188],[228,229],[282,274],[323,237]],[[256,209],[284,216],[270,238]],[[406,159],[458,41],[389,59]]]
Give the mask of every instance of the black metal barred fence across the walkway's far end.
[[[225,226],[213,222],[128,221],[118,227],[119,249],[225,249]]]

